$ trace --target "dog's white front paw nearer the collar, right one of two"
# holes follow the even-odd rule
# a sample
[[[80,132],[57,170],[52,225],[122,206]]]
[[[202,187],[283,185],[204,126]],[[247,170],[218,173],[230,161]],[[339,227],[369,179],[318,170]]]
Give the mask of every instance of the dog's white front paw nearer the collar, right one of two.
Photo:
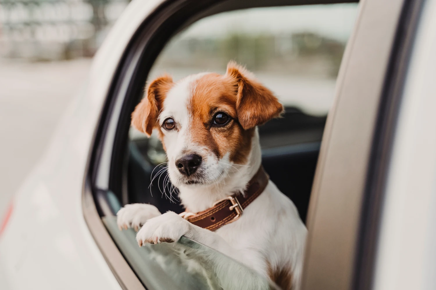
[[[142,247],[145,243],[173,243],[186,234],[191,224],[177,213],[169,211],[147,220],[136,233],[136,241]]]

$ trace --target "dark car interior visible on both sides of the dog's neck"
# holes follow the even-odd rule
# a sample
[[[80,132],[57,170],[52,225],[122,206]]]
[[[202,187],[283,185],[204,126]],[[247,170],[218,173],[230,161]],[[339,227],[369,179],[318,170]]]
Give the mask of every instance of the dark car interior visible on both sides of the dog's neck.
[[[295,203],[303,221],[306,220],[325,120],[326,117],[310,116],[287,107],[282,118],[259,127],[263,167],[276,186]],[[181,213],[184,210],[177,201],[177,193],[173,193],[170,200],[161,192],[166,186],[168,193],[170,183],[165,178],[164,167],[150,158],[150,151],[164,153],[159,145],[151,144],[145,136],[129,140],[128,202],[150,203],[160,212]]]

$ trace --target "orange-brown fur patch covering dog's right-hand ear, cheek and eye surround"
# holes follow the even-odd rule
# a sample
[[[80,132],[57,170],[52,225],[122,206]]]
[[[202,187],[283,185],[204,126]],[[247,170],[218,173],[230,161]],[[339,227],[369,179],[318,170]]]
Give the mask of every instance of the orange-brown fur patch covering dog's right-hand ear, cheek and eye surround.
[[[218,158],[230,153],[234,163],[245,163],[255,127],[279,117],[282,104],[270,90],[248,77],[244,68],[230,62],[225,75],[208,73],[198,79],[188,110],[191,136]],[[224,127],[211,127],[215,113],[223,111],[231,120]]]

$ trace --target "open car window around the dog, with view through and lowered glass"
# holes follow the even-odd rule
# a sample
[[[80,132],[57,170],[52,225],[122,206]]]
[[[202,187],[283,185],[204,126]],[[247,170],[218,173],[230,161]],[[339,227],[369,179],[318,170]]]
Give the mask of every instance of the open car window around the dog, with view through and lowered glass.
[[[305,221],[325,120],[357,9],[354,3],[270,7],[206,17],[167,43],[148,80],[162,73],[171,74],[174,80],[191,73],[225,73],[229,60],[251,70],[285,106],[282,118],[259,127],[262,165]],[[184,211],[167,177],[166,155],[155,133],[146,138],[132,128],[127,159],[128,203],[150,203],[160,212]],[[181,257],[168,245],[141,249],[133,230],[119,231],[113,217],[105,217],[104,223],[146,287],[209,289],[210,283],[216,283],[216,269],[200,257]],[[221,255],[184,237],[177,247],[201,247],[204,253]],[[244,279],[251,277],[268,285],[248,267],[230,257],[222,258],[235,264],[241,277],[246,275]],[[191,266],[199,267],[206,276],[193,276],[184,266],[186,260],[192,260],[197,266]]]

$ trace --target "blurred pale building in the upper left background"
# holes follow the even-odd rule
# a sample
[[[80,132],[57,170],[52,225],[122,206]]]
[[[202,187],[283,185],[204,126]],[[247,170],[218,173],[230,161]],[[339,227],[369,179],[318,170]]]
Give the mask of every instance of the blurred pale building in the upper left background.
[[[90,57],[129,0],[0,0],[0,56]]]

